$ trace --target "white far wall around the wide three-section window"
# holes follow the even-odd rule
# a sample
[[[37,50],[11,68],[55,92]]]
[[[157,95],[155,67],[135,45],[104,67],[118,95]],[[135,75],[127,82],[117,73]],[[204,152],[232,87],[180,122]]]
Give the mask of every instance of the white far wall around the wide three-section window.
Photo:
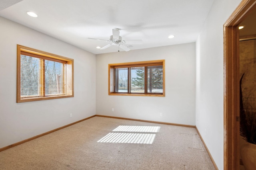
[[[96,114],[195,125],[195,51],[188,43],[96,55]],[[108,95],[108,64],[160,59],[165,97]]]

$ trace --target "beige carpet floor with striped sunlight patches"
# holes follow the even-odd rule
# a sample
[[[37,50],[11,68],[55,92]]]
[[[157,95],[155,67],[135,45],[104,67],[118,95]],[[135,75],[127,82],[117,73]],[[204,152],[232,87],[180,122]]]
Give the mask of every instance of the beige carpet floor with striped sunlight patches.
[[[93,117],[0,152],[1,170],[214,170],[195,128]]]

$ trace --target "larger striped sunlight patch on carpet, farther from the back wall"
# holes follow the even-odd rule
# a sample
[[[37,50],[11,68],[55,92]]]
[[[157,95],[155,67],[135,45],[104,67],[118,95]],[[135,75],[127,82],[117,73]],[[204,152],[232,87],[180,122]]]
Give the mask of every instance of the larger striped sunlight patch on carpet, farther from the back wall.
[[[148,133],[108,133],[100,143],[139,143],[152,144],[156,134]]]

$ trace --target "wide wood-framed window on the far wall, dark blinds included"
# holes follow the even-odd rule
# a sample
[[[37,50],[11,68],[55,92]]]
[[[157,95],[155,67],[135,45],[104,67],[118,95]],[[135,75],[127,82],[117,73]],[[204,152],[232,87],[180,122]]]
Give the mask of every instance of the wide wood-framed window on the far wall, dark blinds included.
[[[108,64],[109,95],[164,96],[164,60]]]

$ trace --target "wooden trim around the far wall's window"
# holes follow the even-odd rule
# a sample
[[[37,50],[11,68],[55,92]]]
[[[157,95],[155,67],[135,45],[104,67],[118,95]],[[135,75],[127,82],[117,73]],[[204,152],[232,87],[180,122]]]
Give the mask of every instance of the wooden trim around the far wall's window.
[[[164,64],[164,62],[165,62],[165,60],[155,60],[155,61],[140,61],[140,62],[131,62],[131,63],[108,64],[108,95],[114,95],[114,96],[158,96],[158,97],[165,97],[165,64]],[[136,93],[125,93],[125,92],[124,93],[110,92],[110,81],[111,81],[110,80],[110,70],[112,68],[128,68],[128,67],[156,66],[156,65],[162,65],[163,66],[163,93],[162,94],[154,94],[154,93],[136,94]],[[130,88],[129,84],[130,83],[128,83],[128,89]]]

